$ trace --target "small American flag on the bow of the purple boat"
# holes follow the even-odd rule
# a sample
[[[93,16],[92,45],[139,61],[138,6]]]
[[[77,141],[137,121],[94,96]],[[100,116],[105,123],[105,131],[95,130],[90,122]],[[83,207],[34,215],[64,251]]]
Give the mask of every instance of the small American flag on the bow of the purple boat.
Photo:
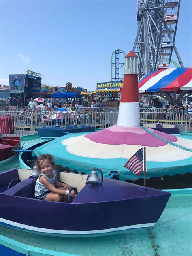
[[[139,175],[143,171],[143,148],[139,149],[124,165],[135,175]]]

